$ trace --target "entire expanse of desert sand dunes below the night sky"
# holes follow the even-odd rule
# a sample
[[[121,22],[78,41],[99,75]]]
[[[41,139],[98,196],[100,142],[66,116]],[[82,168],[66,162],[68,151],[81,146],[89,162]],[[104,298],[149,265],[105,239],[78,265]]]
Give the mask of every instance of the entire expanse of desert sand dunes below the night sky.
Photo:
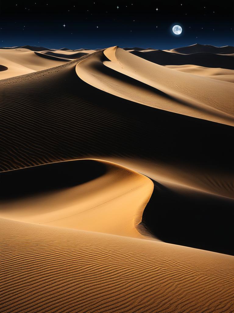
[[[0,312],[233,312],[218,48],[0,49]]]

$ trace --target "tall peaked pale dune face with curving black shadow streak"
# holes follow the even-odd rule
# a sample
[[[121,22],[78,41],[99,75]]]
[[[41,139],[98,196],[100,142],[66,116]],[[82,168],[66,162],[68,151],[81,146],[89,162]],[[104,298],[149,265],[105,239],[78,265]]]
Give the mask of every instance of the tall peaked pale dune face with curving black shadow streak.
[[[234,125],[229,82],[174,71],[118,47],[81,60],[76,73],[86,83],[127,100]]]

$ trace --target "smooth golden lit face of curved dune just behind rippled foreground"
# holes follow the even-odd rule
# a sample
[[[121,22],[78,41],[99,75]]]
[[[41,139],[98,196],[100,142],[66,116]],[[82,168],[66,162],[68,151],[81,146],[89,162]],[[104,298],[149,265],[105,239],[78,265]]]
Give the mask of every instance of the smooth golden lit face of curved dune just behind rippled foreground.
[[[76,167],[77,162],[84,160],[96,163],[95,166],[92,165],[92,171],[99,171],[98,167],[104,166],[105,173],[85,183],[76,185],[74,181],[72,186],[66,186],[69,182],[65,181],[64,186],[57,190],[39,194],[35,194],[37,190],[33,190],[29,195],[14,199],[16,184],[10,193],[11,199],[2,201],[0,217],[135,238],[149,236],[144,227],[141,227],[138,232],[137,225],[141,223],[154,184],[148,177],[121,165],[103,160],[83,159],[8,171],[2,173],[1,178],[5,185],[8,183],[12,187],[12,181],[18,180],[20,183],[21,178],[17,177],[20,175],[32,185],[33,180],[41,181],[41,171],[44,171],[45,176],[54,175],[55,171],[58,171],[61,174],[57,179],[61,180],[66,180],[63,175],[67,174],[63,173],[70,171],[71,176],[68,179],[71,181],[75,179],[72,177],[80,175],[81,168]],[[89,165],[85,165],[85,171],[89,171]],[[38,187],[40,185],[36,185],[35,189]],[[29,186],[26,185],[24,189],[28,188]]]

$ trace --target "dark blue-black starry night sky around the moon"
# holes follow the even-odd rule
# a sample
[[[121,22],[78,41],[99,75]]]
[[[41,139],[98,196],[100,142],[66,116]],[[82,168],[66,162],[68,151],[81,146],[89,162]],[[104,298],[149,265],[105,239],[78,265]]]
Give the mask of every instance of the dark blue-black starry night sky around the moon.
[[[0,46],[234,46],[234,1],[35,1],[0,1]]]

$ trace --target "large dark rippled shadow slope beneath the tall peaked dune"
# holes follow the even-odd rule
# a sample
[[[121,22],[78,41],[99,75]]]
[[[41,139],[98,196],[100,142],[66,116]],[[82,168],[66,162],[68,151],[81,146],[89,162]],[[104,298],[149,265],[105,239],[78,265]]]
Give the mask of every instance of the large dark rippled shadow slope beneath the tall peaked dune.
[[[96,55],[98,66],[108,71],[108,79],[111,74],[119,81],[127,81],[125,97],[133,96],[128,87],[134,81],[136,95],[141,96],[147,87],[159,104],[168,99],[153,87],[104,66],[100,61],[101,56],[105,60],[102,51],[83,59]],[[0,81],[2,171],[87,156],[133,157],[163,161],[177,168],[189,164],[185,172],[193,167],[193,175],[209,177],[211,189],[219,186],[219,192],[232,194],[232,155],[226,153],[233,138],[232,127],[141,105],[99,90],[77,76],[78,62]],[[89,64],[88,69],[92,71]],[[217,142],[220,136],[222,141]],[[219,181],[221,173],[219,184],[216,179]]]

